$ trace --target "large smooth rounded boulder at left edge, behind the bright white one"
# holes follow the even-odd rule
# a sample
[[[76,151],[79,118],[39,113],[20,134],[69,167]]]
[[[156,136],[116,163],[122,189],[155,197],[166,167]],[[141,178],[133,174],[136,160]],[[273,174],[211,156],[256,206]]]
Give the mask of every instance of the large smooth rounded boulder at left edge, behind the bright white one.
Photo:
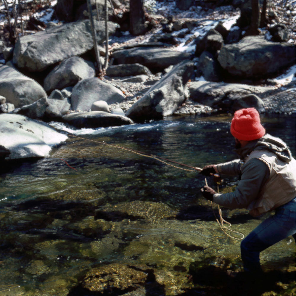
[[[8,66],[0,66],[0,95],[15,107],[22,107],[38,99],[47,98],[40,84]]]

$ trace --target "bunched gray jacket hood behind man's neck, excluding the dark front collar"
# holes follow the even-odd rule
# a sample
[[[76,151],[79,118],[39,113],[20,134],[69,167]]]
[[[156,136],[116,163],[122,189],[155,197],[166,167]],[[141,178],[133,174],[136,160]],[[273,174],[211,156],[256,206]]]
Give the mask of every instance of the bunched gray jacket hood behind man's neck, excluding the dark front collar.
[[[292,153],[287,144],[280,138],[273,137],[268,133],[258,140],[254,150],[268,150],[273,152],[279,160],[286,163],[292,159]]]

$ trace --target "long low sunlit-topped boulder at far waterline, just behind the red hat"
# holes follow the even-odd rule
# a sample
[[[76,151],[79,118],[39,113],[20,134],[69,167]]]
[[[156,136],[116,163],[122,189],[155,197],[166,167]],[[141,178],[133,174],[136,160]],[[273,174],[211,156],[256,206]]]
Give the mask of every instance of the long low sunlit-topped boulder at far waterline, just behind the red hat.
[[[210,107],[232,108],[234,100],[244,95],[261,97],[274,90],[272,86],[252,86],[240,83],[194,81],[189,83],[189,99]]]

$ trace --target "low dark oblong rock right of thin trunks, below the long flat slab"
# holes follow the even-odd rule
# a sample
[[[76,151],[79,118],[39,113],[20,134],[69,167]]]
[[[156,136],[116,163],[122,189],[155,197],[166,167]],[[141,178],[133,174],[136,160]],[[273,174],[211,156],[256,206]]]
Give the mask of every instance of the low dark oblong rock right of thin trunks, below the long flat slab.
[[[120,64],[111,65],[106,70],[106,75],[110,77],[125,77],[136,75],[151,75],[150,70],[140,64]]]

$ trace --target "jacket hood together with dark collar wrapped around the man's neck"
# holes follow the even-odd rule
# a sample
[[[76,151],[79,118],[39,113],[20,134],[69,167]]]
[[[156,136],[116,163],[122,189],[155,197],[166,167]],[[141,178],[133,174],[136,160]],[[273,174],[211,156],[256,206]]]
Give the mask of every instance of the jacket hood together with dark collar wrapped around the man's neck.
[[[288,163],[292,159],[292,154],[287,144],[280,138],[265,134],[262,138],[250,141],[245,147],[235,150],[241,159],[244,159],[253,150],[268,150]]]

